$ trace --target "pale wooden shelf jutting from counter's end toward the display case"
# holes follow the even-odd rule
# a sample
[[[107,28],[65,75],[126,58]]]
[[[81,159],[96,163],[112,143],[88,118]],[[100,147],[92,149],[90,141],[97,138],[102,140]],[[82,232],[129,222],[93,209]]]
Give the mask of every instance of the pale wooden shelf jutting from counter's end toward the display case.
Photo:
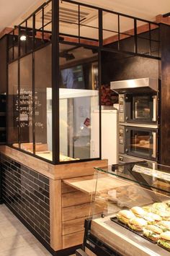
[[[130,184],[130,182],[124,182],[120,179],[117,179],[116,177],[114,177],[114,179],[110,179],[107,174],[101,174],[101,176],[99,176],[98,179],[94,179],[94,176],[85,176],[73,179],[64,179],[63,182],[87,194],[95,192],[96,182],[97,192],[102,192],[108,189],[114,189],[116,187],[127,186],[128,184]]]

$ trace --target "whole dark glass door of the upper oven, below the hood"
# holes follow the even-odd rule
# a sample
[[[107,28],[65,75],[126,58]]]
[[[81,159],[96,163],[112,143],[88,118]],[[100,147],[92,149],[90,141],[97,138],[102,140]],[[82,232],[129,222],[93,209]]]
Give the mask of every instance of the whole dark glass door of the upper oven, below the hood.
[[[126,95],[126,121],[155,124],[157,121],[157,95]]]

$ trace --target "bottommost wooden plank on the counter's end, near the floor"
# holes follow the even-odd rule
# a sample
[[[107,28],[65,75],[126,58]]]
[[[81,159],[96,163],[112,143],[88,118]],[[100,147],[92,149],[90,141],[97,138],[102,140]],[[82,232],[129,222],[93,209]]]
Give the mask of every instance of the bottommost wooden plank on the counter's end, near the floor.
[[[63,236],[63,249],[82,244],[84,240],[84,231]]]

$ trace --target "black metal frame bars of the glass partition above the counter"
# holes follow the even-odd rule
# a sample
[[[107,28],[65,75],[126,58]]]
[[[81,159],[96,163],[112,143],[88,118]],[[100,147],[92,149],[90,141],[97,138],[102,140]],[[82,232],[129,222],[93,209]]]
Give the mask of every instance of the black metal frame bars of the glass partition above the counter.
[[[34,98],[35,95],[35,82],[34,82],[34,54],[35,51],[40,50],[40,48],[48,46],[48,44],[52,45],[52,90],[53,90],[53,98],[52,98],[52,118],[53,118],[53,161],[48,161],[45,158],[41,158],[40,156],[35,154],[35,109],[34,109],[34,101],[33,101],[33,114],[32,114],[32,142],[33,142],[33,153],[29,153],[25,150],[22,150],[20,147],[21,145],[21,140],[20,140],[20,127],[18,127],[18,138],[19,138],[19,148],[15,148],[17,150],[20,150],[24,153],[27,153],[29,155],[33,155],[36,158],[40,158],[43,161],[47,161],[49,163],[53,164],[62,164],[62,163],[76,163],[76,162],[84,162],[84,161],[93,161],[93,160],[99,160],[102,158],[102,127],[101,127],[101,84],[102,84],[102,76],[101,76],[101,54],[102,51],[110,51],[113,53],[121,53],[121,54],[130,54],[133,56],[142,56],[150,59],[158,59],[160,60],[160,56],[154,56],[151,51],[151,43],[156,42],[158,43],[158,48],[160,48],[160,39],[154,40],[151,38],[151,27],[156,27],[158,28],[158,38],[159,37],[159,25],[156,22],[150,22],[148,20],[143,20],[137,17],[133,17],[127,14],[122,14],[118,12],[113,12],[108,9],[102,9],[99,7],[95,7],[89,4],[83,4],[79,3],[76,1],[72,0],[62,0],[63,2],[74,4],[78,8],[78,22],[68,22],[74,25],[78,26],[78,35],[71,35],[67,33],[60,33],[60,9],[59,9],[59,3],[61,0],[49,0],[48,2],[42,4],[35,12],[33,12],[27,19],[25,19],[23,22],[21,22],[18,26],[14,27],[14,30],[12,30],[11,33],[9,33],[8,37],[8,48],[7,48],[7,55],[8,55],[8,64],[12,63],[13,61],[18,61],[18,89],[20,87],[19,85],[19,61],[22,59],[24,56],[27,56],[28,54],[32,54],[32,97]],[[45,7],[48,6],[48,4],[52,5],[52,19],[45,24],[44,22],[44,10]],[[81,7],[88,7],[91,9],[94,9],[97,11],[97,17],[98,17],[98,25],[97,27],[94,26],[89,26],[89,25],[82,25],[81,24],[81,19],[80,19],[80,12],[81,12]],[[38,29],[35,26],[36,22],[36,14],[38,12],[42,12],[42,26],[39,27]],[[117,31],[115,30],[107,30],[104,29],[103,27],[103,14],[104,12],[107,12],[109,14],[115,14],[117,15]],[[130,35],[126,32],[120,32],[120,19],[121,17],[126,17],[131,20],[133,20],[134,24],[134,35]],[[32,19],[32,27],[27,26],[27,21]],[[148,32],[149,37],[148,38],[143,38],[142,35],[138,34],[138,27],[137,23],[139,22],[144,22],[148,25],[149,29],[146,30]],[[45,30],[45,27],[51,23],[52,25],[52,30]],[[23,27],[24,24],[24,27]],[[81,27],[89,27],[89,28],[94,28],[98,30],[98,39],[97,38],[86,38],[81,36]],[[29,36],[32,40],[32,48],[28,48],[27,46],[27,41],[25,42],[24,46],[24,53],[21,54],[21,43],[19,40],[19,37],[21,35],[21,32],[23,32],[26,36]],[[104,30],[110,32],[110,33],[117,33],[117,49],[112,48],[110,46],[104,45],[104,38],[103,38],[103,33]],[[36,38],[35,38],[35,33],[39,32],[41,35],[41,43],[40,45],[36,46]],[[45,40],[45,34],[49,35],[48,40]],[[125,35],[127,37],[134,37],[134,51],[122,51],[120,48],[120,42],[121,42],[121,35]],[[76,42],[71,42],[70,40],[65,40],[65,38],[76,38]],[[143,38],[144,40],[148,40],[149,42],[149,51],[145,54],[138,53],[138,38]],[[89,40],[90,43],[86,43]],[[72,44],[73,46],[84,46],[84,47],[89,47],[89,48],[94,48],[98,51],[99,54],[99,158],[88,158],[88,159],[81,159],[81,160],[76,160],[76,161],[64,161],[61,162],[59,159],[60,156],[60,131],[59,131],[59,82],[58,82],[58,76],[59,76],[59,43],[66,43],[66,44]],[[15,51],[17,48],[17,57],[15,57]],[[9,52],[12,52],[11,56],[9,57]],[[18,90],[19,92],[19,90]],[[19,96],[19,95],[18,95]],[[18,115],[19,116],[19,115]],[[7,121],[8,123],[8,121]],[[9,145],[10,147],[14,148],[12,145]]]

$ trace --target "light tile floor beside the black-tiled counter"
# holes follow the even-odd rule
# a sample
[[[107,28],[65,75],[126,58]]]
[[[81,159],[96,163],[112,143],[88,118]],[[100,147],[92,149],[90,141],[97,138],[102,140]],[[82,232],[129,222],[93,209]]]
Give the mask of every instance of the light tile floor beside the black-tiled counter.
[[[0,256],[50,255],[6,205],[0,205]]]

